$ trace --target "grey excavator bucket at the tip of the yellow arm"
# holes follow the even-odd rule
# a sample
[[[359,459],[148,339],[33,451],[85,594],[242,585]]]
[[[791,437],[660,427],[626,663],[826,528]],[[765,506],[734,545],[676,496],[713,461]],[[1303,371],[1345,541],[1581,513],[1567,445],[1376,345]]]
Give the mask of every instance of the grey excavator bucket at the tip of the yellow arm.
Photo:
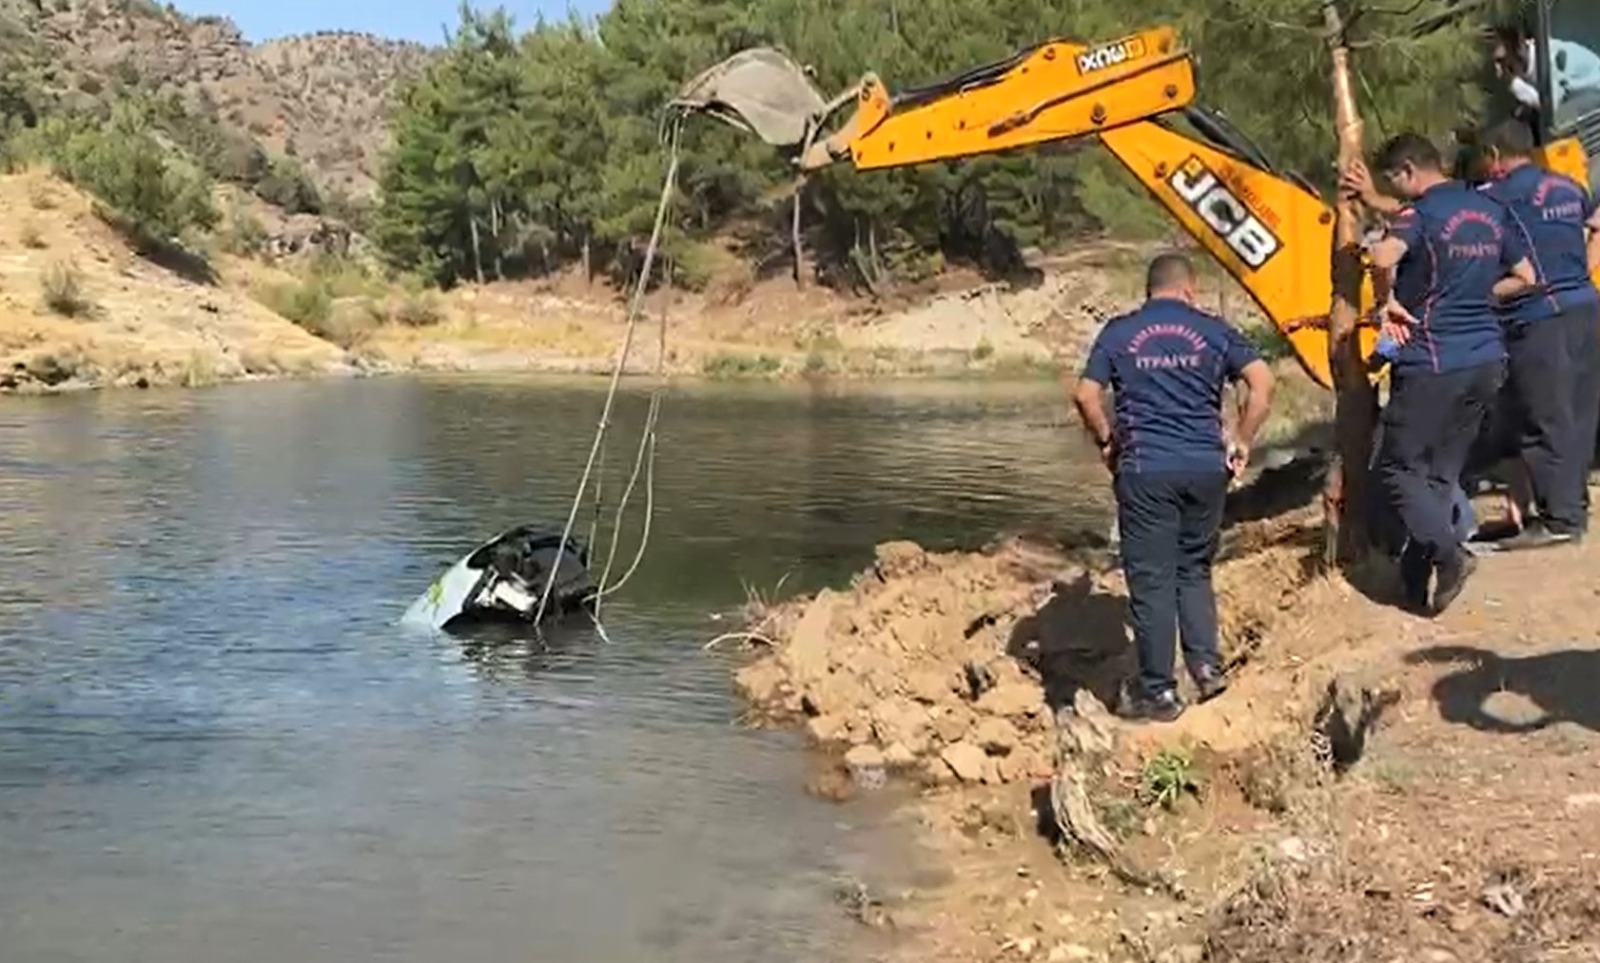
[[[685,83],[672,106],[709,114],[782,149],[805,142],[808,125],[821,120],[827,102],[782,51],[755,46]]]

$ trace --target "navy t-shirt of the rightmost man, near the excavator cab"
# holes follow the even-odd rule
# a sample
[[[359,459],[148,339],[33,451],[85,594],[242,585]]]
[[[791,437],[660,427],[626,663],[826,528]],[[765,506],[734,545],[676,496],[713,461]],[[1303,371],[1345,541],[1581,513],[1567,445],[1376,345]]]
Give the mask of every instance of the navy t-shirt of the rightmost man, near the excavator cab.
[[[1512,213],[1542,285],[1501,306],[1504,320],[1514,325],[1542,322],[1563,310],[1600,304],[1584,240],[1584,224],[1594,216],[1595,202],[1578,181],[1525,163],[1486,184],[1483,192]]]

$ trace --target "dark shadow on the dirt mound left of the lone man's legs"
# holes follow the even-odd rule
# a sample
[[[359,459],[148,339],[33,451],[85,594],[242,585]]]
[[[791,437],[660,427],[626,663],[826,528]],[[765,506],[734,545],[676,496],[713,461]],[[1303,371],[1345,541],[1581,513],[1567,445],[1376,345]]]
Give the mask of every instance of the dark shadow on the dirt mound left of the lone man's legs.
[[[1126,611],[1126,598],[1098,590],[1088,574],[1056,582],[1050,600],[1018,621],[1006,653],[1038,672],[1051,709],[1072,705],[1078,689],[1115,709],[1136,667]]]

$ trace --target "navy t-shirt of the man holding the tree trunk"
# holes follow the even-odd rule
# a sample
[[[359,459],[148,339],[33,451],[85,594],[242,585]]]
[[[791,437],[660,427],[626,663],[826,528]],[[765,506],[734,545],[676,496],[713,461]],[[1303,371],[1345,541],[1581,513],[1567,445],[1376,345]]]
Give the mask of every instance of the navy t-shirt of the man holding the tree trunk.
[[[1502,360],[1494,282],[1528,256],[1506,205],[1446,181],[1403,206],[1389,234],[1406,245],[1395,269],[1395,301],[1419,322],[1394,368],[1459,371]]]

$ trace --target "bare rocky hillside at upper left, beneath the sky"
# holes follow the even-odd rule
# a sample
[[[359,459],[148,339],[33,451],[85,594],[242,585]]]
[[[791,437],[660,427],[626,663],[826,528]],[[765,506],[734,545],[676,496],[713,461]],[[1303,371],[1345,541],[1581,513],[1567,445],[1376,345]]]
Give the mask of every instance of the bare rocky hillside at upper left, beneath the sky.
[[[139,83],[178,93],[197,114],[291,157],[326,195],[371,195],[397,82],[429,48],[365,34],[253,45],[224,18],[150,0],[0,0],[48,62],[58,91],[94,98]]]

